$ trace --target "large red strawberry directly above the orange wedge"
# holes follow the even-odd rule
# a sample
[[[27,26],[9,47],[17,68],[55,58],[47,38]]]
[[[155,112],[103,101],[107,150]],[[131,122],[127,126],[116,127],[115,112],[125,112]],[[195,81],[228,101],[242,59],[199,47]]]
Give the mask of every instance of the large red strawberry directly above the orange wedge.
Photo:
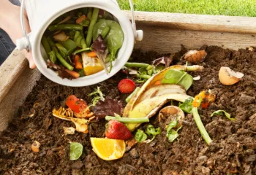
[[[110,120],[106,127],[105,136],[108,137],[108,139],[127,140],[132,137],[132,133],[123,123]]]

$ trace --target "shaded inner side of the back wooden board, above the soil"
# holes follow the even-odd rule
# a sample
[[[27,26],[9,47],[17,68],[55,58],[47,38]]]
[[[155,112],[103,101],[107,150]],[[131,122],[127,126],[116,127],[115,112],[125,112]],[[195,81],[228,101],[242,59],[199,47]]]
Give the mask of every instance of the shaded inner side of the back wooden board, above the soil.
[[[252,34],[237,34],[213,31],[173,30],[159,28],[137,23],[138,29],[142,29],[144,37],[142,42],[137,42],[135,48],[152,50],[156,52],[178,52],[181,44],[188,49],[198,49],[203,44],[217,45],[219,47],[238,50],[256,45],[255,36]]]

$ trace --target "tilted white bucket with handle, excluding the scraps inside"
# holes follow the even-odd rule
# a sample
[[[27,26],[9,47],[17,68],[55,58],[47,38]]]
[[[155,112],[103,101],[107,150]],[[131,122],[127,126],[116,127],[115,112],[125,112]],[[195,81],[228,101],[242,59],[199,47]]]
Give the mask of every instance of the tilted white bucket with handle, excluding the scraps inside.
[[[23,7],[26,7],[31,33],[26,34],[23,27],[22,39],[17,40],[19,50],[31,50],[37,69],[48,79],[61,85],[80,87],[94,85],[116,74],[122,66],[128,61],[134,47],[135,39],[140,41],[143,38],[143,31],[136,31],[132,0],[129,0],[132,10],[132,23],[129,18],[118,7],[116,0],[23,0],[21,1],[21,14]],[[110,74],[105,71],[99,71],[97,74],[80,77],[78,79],[61,79],[55,71],[47,69],[45,59],[47,57],[41,44],[42,35],[46,28],[60,15],[73,9],[82,7],[97,7],[110,12],[120,24],[124,32],[124,43],[120,50],[116,61],[113,62],[113,69]],[[23,26],[23,18],[20,19]]]

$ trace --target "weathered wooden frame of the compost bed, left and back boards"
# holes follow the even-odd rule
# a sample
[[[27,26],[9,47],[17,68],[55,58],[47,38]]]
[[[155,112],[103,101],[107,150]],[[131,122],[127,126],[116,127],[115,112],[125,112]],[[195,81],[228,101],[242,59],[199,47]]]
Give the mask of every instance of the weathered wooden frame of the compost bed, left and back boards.
[[[137,29],[144,32],[135,48],[144,51],[178,52],[181,44],[189,49],[207,44],[238,50],[256,44],[256,18],[135,12],[135,20]],[[18,114],[40,76],[37,69],[29,69],[18,50],[0,66],[0,131]]]

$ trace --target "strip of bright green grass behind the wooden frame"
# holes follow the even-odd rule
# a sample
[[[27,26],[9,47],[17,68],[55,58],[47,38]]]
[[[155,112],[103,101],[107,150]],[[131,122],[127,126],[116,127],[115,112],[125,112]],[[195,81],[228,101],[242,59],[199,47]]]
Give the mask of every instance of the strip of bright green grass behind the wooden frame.
[[[133,0],[135,10],[256,17],[256,0]],[[118,0],[129,10],[129,0]],[[157,18],[157,17],[156,17]]]

